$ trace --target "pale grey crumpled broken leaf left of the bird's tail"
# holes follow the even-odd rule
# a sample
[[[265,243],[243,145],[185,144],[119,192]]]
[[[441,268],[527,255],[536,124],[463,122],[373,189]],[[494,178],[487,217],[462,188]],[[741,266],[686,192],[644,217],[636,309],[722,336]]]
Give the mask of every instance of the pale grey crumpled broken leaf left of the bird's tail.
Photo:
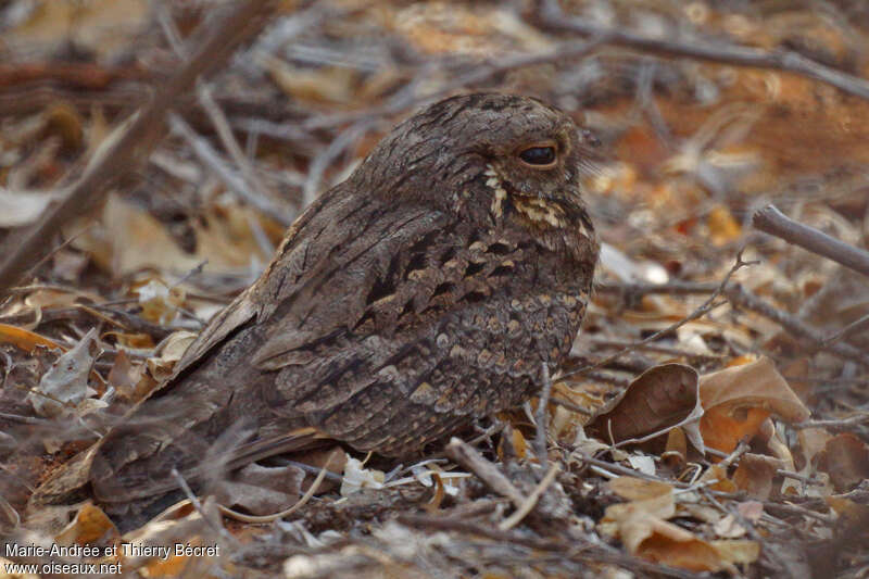
[[[59,416],[64,408],[72,410],[88,395],[88,375],[93,365],[90,345],[97,338],[91,328],[68,352],[58,358],[39,386],[27,399],[40,416]]]

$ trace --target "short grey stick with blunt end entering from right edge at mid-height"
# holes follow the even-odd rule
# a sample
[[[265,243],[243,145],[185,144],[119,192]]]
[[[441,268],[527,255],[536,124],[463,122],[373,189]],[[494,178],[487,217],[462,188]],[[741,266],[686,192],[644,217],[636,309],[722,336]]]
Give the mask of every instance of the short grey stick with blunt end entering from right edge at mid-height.
[[[823,255],[869,277],[869,251],[855,248],[814,227],[795,222],[776,209],[776,205],[767,205],[756,211],[752,216],[752,225],[756,229]]]

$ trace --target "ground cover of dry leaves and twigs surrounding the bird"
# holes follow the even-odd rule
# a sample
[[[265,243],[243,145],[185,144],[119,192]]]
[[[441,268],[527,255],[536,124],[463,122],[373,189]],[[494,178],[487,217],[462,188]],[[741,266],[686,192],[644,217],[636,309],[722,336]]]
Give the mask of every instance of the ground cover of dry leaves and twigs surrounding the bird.
[[[138,1],[102,4],[0,11],[7,242],[177,65],[160,18],[186,40],[211,8],[167,3],[161,16]],[[51,259],[0,303],[7,541],[222,547],[112,559],[150,577],[865,575],[869,377],[835,347],[865,351],[869,284],[750,222],[773,201],[865,247],[869,102],[727,60],[612,46],[559,59],[569,38],[544,4],[288,4],[210,84],[240,161],[193,100],[179,104],[193,139],[164,138],[137,179],[46,240]],[[869,75],[859,5],[828,7],[833,17],[736,4],[569,10],[595,26],[676,38],[681,25],[696,42],[791,50]],[[556,56],[509,65],[527,54]],[[543,424],[534,400],[417,464],[351,453],[326,473],[315,451],[219,473],[207,492],[126,532],[80,484],[66,484],[64,504],[28,504],[59,465],[86,471],[83,451],[255,279],[310,192],[343,178],[420,102],[464,89],[543,98],[612,151],[587,186],[604,248],[596,291]],[[742,248],[759,263],[716,294]],[[746,293],[756,300],[734,299]],[[745,305],[758,300],[766,307]],[[221,515],[290,508],[319,475],[286,519]]]

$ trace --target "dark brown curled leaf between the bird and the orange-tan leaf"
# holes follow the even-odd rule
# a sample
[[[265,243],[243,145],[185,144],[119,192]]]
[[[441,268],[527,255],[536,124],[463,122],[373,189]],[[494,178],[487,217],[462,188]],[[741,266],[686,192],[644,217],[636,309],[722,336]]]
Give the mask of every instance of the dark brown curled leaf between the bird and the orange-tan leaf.
[[[617,444],[644,442],[694,423],[702,414],[696,370],[682,364],[662,364],[637,377],[588,429]]]

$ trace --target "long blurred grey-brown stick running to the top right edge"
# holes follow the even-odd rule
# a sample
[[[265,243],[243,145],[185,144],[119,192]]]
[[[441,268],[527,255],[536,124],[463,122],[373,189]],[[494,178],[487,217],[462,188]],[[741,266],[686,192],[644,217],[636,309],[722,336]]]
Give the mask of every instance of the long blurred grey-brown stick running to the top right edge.
[[[730,43],[708,43],[698,39],[683,41],[650,38],[624,29],[597,26],[589,20],[565,14],[558,7],[557,0],[543,0],[542,3],[541,21],[549,28],[603,38],[607,45],[642,50],[645,54],[687,56],[732,66],[789,72],[805,78],[819,80],[862,99],[869,99],[869,81],[866,79],[824,66],[797,52],[784,50],[765,51]]]

